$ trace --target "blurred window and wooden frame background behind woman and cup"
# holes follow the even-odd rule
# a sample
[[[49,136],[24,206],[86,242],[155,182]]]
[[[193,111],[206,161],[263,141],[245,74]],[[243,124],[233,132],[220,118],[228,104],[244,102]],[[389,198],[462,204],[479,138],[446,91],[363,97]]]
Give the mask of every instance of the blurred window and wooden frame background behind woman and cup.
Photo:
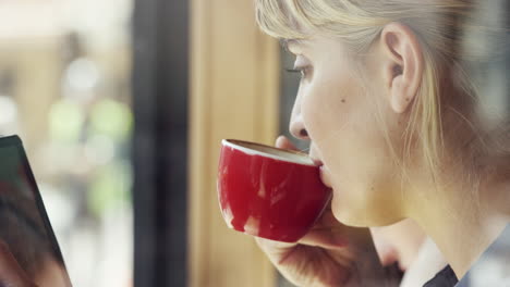
[[[291,286],[226,228],[216,165],[222,138],[288,135],[292,62],[252,0],[0,1],[0,134],[24,140],[74,286]],[[509,63],[478,68],[489,113]]]

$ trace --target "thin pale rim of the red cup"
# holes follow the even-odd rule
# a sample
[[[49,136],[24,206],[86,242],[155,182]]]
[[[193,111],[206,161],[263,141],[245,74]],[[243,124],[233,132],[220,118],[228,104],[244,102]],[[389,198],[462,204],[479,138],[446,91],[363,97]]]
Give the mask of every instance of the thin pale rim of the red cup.
[[[252,141],[239,140],[239,139],[222,139],[221,145],[231,147],[231,148],[240,150],[240,151],[243,151],[244,153],[247,153],[247,154],[257,154],[257,155],[260,155],[260,157],[270,158],[270,159],[278,160],[278,161],[284,161],[284,162],[289,162],[289,163],[317,167],[317,165],[308,157],[308,154],[306,154],[304,152],[301,152],[301,151],[280,149],[280,148],[277,148],[277,147],[271,147],[271,146],[267,146],[267,145],[263,145],[263,144],[258,144],[258,142],[252,142]],[[282,152],[282,153],[298,155],[301,159],[303,159],[303,161],[292,160],[292,159],[284,158],[284,157],[279,157],[277,154],[272,154],[272,153],[269,153],[269,152],[264,152],[264,151],[260,151],[260,150],[257,150],[257,149],[251,149],[251,148],[245,147],[243,145],[256,146],[256,147],[260,147],[263,149],[269,149],[269,150],[275,150],[275,151]]]

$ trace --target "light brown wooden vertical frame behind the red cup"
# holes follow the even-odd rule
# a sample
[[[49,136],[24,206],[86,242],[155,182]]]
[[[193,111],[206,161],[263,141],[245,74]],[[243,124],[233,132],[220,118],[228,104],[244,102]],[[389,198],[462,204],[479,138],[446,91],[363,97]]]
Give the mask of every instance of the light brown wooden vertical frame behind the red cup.
[[[189,286],[276,286],[254,240],[223,223],[216,169],[222,138],[277,136],[278,43],[257,28],[252,0],[192,0],[191,27]]]

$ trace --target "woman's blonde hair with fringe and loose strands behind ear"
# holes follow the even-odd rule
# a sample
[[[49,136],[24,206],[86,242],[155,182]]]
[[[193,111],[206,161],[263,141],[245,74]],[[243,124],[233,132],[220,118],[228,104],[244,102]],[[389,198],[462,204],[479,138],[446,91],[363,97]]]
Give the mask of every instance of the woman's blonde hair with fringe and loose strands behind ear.
[[[410,111],[402,155],[409,158],[411,149],[416,148],[412,147],[414,138],[434,180],[445,145],[441,73],[454,70],[451,80],[467,96],[461,99],[462,105],[469,107],[463,112],[472,113],[470,109],[476,102],[476,89],[464,72],[463,62],[477,58],[462,51],[462,34],[474,10],[474,0],[256,0],[257,23],[277,38],[303,39],[321,33],[341,39],[355,54],[363,54],[391,22],[402,23],[416,34],[425,67]],[[390,149],[397,155],[391,145]],[[405,172],[404,163],[400,165]]]

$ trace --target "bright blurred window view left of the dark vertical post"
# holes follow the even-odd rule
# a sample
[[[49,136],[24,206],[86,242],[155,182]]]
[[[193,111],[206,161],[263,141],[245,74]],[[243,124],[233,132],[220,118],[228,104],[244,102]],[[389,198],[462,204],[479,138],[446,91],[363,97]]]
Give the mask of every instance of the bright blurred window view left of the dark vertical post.
[[[74,286],[130,286],[131,0],[0,2],[0,134],[20,134]]]

